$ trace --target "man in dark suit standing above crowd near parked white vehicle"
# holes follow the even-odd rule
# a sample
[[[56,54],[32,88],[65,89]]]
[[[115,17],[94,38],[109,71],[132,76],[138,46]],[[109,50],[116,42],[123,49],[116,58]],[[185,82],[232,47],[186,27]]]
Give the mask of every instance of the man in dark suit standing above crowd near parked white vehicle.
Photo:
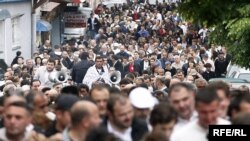
[[[100,22],[97,18],[94,17],[94,14],[90,14],[90,18],[88,18],[87,22],[88,30],[89,30],[89,37],[91,39],[95,38],[95,35],[97,34],[99,28],[100,28]]]

